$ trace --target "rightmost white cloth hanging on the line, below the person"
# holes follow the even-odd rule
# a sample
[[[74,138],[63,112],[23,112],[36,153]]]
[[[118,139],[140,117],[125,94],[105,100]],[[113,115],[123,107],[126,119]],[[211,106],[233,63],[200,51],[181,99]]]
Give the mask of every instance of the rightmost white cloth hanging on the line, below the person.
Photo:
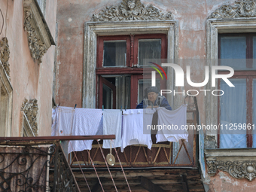
[[[187,141],[187,105],[181,105],[174,111],[166,108],[157,108],[158,126],[157,142],[178,142],[181,139]]]

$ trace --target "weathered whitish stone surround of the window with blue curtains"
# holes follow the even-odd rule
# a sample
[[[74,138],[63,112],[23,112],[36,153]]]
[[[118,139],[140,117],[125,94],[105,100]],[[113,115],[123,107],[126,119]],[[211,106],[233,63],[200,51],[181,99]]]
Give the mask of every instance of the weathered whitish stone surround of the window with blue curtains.
[[[218,34],[219,33],[244,33],[255,32],[256,17],[251,18],[231,18],[231,19],[208,19],[206,20],[206,65],[209,66],[209,72],[212,66],[218,66]],[[209,78],[211,79],[211,73]],[[216,86],[206,85],[206,90],[218,90],[218,81]],[[206,96],[206,124],[218,124],[218,97],[208,94]],[[206,135],[215,136],[217,142],[218,130],[206,130]]]

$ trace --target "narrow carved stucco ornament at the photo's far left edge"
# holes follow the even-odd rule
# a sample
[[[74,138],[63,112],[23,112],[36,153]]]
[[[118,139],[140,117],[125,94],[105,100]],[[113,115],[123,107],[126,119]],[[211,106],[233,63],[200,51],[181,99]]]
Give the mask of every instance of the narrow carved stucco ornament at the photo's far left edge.
[[[8,78],[10,79],[10,65],[9,65],[9,58],[10,58],[10,49],[8,44],[8,39],[2,38],[0,41],[0,61],[5,69]]]

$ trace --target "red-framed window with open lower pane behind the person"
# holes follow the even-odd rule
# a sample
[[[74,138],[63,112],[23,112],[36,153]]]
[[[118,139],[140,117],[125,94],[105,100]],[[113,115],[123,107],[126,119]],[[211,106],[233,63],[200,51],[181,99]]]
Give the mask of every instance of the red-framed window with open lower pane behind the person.
[[[136,108],[143,98],[142,85],[151,85],[151,75],[143,75],[145,59],[167,58],[166,35],[99,36],[97,45],[97,108]],[[160,76],[157,84],[166,89]]]

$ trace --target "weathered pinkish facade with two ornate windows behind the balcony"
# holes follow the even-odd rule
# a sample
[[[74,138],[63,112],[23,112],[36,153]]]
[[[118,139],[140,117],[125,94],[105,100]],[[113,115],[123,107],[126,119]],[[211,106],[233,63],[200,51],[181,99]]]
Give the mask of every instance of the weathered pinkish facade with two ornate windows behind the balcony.
[[[160,39],[159,59],[178,63],[184,76],[189,63],[192,82],[203,82],[205,72],[211,81],[215,66],[234,69],[231,82],[237,88],[233,92],[222,81],[214,86],[209,81],[201,87],[192,87],[185,81],[184,87],[177,87],[174,71],[167,72],[166,90],[209,91],[209,94],[201,91],[197,96],[201,124],[253,125],[256,117],[253,62],[247,61],[245,66],[235,62],[224,65],[219,64],[218,59],[254,58],[255,5],[254,1],[58,1],[54,98],[69,107],[78,104],[83,108],[102,108],[109,102],[102,98],[102,87],[104,91],[104,86],[111,87],[112,82],[115,87],[110,89],[116,91],[112,99],[118,102],[109,106],[135,108],[140,102],[139,83],[143,73],[139,60],[143,47],[140,46],[144,39]],[[117,61],[123,63],[120,58],[108,63],[105,57],[108,47],[117,41],[120,44],[114,45],[116,47],[126,42],[125,64],[117,64]],[[157,47],[156,42],[151,43]],[[123,54],[122,48],[118,51],[117,54]],[[205,66],[209,66],[209,71]],[[120,77],[125,79],[123,90],[130,97],[128,101],[117,99],[121,98],[119,83],[123,84]],[[214,90],[224,90],[224,96],[215,96],[215,92],[211,93]],[[236,99],[231,99],[234,95]],[[182,94],[167,95],[167,98],[174,109],[184,102]],[[228,107],[230,105],[234,107]],[[234,111],[241,115],[235,115]],[[205,190],[254,191],[253,132],[246,128],[238,137],[213,129],[200,133],[200,169]],[[239,144],[233,144],[236,140]]]

